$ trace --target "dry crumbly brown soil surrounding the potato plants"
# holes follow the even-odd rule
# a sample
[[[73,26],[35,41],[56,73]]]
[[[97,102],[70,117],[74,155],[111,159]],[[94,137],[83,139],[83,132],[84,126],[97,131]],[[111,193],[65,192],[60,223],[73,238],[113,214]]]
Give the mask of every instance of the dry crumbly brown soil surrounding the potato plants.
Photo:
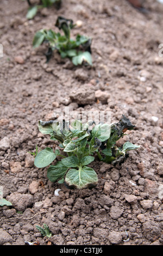
[[[0,138],[7,137],[0,150],[0,185],[12,203],[0,208],[0,244],[163,245],[163,57],[158,56],[163,5],[147,0],[143,14],[125,0],[65,0],[60,10],[43,10],[30,21],[27,7],[20,0],[3,0],[0,7]],[[72,36],[92,37],[92,68],[74,67],[57,54],[46,64],[46,48],[32,48],[35,32],[56,29],[59,15],[83,22]],[[92,94],[108,93],[107,99],[92,101],[89,94],[85,99],[83,87]],[[122,166],[93,162],[99,181],[92,190],[53,184],[47,168],[35,168],[28,153],[36,144],[39,150],[57,147],[40,134],[37,123],[51,120],[65,106],[111,111],[112,122],[125,114],[136,125],[123,142],[129,139],[140,149]],[[43,223],[52,231],[50,239],[35,227]]]

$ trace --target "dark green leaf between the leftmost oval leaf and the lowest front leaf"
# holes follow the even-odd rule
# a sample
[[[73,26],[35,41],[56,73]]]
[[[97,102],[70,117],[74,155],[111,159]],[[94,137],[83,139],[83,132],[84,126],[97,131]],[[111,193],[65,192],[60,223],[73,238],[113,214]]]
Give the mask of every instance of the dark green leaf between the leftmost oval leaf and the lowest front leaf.
[[[64,175],[66,174],[67,167],[64,166],[64,164],[59,161],[55,166],[50,166],[47,170],[47,177],[50,181],[55,182],[58,179],[62,179]]]

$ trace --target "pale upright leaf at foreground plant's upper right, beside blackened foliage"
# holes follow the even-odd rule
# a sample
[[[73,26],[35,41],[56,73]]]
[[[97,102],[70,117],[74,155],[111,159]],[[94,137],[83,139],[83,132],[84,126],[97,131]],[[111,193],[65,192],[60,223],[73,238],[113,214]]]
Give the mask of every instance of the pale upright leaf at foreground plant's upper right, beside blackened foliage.
[[[110,137],[110,125],[109,124],[98,124],[92,129],[92,137],[98,138],[101,142],[106,141]]]

